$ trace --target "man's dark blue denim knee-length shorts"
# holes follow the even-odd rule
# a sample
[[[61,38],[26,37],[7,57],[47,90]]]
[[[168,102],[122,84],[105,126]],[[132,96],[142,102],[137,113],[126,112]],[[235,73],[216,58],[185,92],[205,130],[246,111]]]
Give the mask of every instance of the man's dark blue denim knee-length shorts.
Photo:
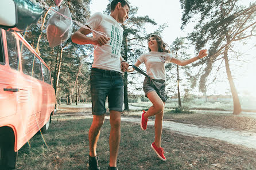
[[[108,108],[110,111],[123,111],[122,73],[112,70],[92,68],[90,85],[92,114],[101,115],[106,113],[106,97],[108,97]]]

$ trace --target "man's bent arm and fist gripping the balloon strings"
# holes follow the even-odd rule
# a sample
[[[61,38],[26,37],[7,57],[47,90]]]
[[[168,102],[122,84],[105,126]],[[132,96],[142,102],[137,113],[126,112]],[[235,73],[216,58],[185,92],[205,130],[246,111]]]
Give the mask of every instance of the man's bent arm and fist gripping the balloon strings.
[[[91,30],[84,29],[83,27],[77,30],[71,37],[72,41],[76,44],[93,44],[93,45],[105,45],[110,38],[104,35],[98,35],[96,37],[88,37],[87,35],[91,33]]]

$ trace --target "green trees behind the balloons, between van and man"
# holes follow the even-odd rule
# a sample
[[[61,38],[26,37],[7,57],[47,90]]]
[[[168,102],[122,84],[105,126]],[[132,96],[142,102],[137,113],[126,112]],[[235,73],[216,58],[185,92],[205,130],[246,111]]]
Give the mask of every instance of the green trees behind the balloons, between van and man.
[[[72,19],[75,21],[85,23],[88,17],[90,17],[89,5],[91,0],[63,1],[59,7],[55,6],[54,1],[45,0],[45,2],[49,6],[52,6],[52,9],[56,11],[64,6],[68,6],[69,10],[71,11]],[[83,58],[92,51],[92,46],[73,44],[71,38],[69,38],[60,46],[50,48],[46,37],[46,23],[53,15],[53,10],[50,10],[46,15],[44,25],[42,25],[43,19],[39,19],[37,26],[34,26],[30,30],[26,31],[25,38],[35,49],[37,46],[38,37],[41,34],[41,39],[39,41],[40,56],[51,69],[52,82],[55,88],[57,84],[57,69],[61,63],[60,79],[58,84],[58,98],[72,98],[76,95],[76,92],[79,93],[80,98],[88,98],[88,96],[90,96],[90,86],[88,84],[88,68],[90,68],[90,62],[86,62],[82,67],[82,73],[86,77],[80,74],[77,78],[76,86],[75,81],[79,71],[79,66],[82,64]],[[44,18],[45,14],[46,11],[44,14],[42,14],[42,18]],[[73,23],[73,26],[73,31],[79,29],[75,23]],[[61,48],[63,48],[63,54],[60,60]],[[79,90],[76,90],[76,88],[79,88]],[[71,96],[72,92],[73,96]]]

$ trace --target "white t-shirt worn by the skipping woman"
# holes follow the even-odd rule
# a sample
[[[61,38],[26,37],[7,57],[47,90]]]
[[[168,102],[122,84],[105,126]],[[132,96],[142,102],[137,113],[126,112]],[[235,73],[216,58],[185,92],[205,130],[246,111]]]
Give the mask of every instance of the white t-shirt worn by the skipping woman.
[[[145,63],[150,78],[165,80],[165,64],[172,60],[172,55],[170,53],[149,52],[139,56],[138,60]]]

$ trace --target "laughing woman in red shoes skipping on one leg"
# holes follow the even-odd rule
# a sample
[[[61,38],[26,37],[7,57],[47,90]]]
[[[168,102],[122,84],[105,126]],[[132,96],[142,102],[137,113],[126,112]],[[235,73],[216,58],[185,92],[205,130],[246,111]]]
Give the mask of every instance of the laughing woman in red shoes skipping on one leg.
[[[201,50],[199,55],[187,60],[179,60],[172,57],[169,50],[166,49],[167,45],[162,41],[158,35],[150,35],[148,39],[149,53],[144,53],[139,56],[138,61],[134,66],[139,66],[143,62],[146,65],[148,77],[143,82],[143,90],[145,96],[152,102],[152,106],[147,112],[143,110],[141,114],[141,129],[146,130],[148,117],[156,115],[154,128],[155,139],[152,143],[152,149],[157,153],[161,160],[165,161],[164,149],[161,148],[161,135],[162,135],[162,118],[164,115],[165,97],[165,64],[166,62],[173,62],[177,65],[187,65],[207,56],[207,50]],[[133,72],[133,68],[128,68],[127,72]]]

